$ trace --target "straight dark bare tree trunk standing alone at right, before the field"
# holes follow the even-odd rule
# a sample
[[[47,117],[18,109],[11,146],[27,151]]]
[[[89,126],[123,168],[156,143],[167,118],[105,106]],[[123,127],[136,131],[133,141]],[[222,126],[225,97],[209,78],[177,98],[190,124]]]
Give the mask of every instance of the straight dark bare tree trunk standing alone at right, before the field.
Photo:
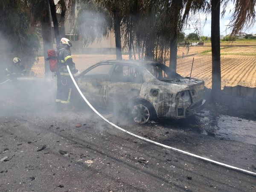
[[[212,0],[212,92],[215,101],[221,93],[220,0]]]

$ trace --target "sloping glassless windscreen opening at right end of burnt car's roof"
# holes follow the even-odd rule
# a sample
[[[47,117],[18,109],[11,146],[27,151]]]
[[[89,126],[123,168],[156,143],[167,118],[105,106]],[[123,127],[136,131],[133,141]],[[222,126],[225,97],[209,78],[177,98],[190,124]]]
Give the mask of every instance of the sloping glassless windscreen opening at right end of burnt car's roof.
[[[149,64],[146,65],[146,69],[160,81],[169,81],[182,77],[164,64]]]

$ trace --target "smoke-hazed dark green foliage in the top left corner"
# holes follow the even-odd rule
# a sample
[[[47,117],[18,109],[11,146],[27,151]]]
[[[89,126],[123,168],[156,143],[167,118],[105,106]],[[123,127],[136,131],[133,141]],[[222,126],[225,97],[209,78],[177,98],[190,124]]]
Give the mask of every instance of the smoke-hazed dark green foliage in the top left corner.
[[[23,7],[19,1],[0,1],[0,56],[6,62],[18,57],[30,69],[40,45],[38,34],[31,30]]]

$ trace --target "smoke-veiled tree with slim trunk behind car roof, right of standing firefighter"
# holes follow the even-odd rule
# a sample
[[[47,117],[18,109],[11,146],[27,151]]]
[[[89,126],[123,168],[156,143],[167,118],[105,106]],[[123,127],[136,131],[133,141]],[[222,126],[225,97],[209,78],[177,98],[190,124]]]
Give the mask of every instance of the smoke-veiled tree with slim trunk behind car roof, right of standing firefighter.
[[[121,60],[120,28],[124,5],[125,0],[83,0],[78,15],[78,29],[83,35],[84,44],[100,41],[108,36],[109,31],[114,31],[116,59]]]

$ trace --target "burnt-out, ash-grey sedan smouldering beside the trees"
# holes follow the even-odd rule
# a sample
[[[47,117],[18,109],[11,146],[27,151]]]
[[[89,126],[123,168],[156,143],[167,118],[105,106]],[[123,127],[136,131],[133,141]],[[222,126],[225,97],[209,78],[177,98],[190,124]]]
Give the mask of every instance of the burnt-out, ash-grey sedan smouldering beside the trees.
[[[128,111],[135,122],[180,119],[203,108],[204,81],[154,61],[101,61],[76,77],[92,105]]]

